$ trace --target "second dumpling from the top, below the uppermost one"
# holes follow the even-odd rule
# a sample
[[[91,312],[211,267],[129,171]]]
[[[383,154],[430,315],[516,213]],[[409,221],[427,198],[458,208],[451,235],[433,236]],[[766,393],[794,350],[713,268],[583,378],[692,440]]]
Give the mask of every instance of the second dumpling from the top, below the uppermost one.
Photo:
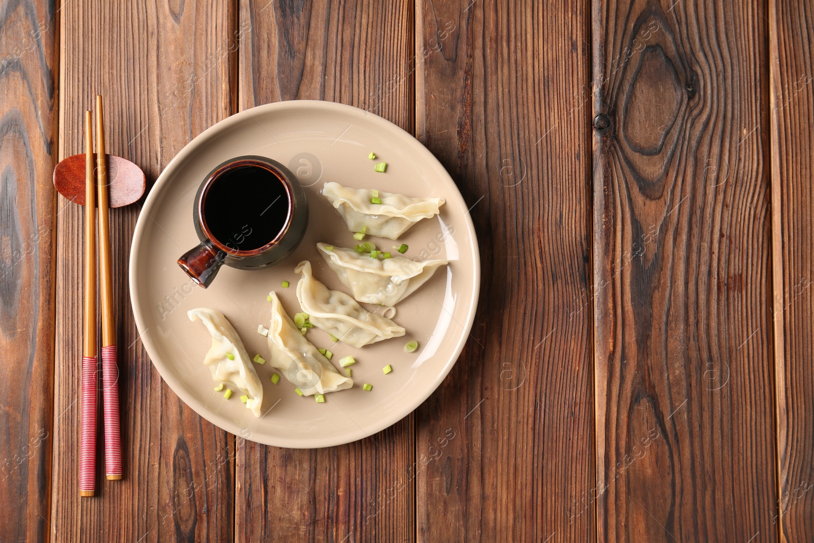
[[[411,261],[404,256],[384,260],[366,252],[317,243],[326,262],[353,297],[366,304],[396,305],[421,287],[447,261]]]

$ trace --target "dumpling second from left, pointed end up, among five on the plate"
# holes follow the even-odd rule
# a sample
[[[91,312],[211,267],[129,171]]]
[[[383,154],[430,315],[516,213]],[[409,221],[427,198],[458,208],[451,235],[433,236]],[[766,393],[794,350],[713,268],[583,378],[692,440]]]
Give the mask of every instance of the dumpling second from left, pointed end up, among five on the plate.
[[[271,292],[271,326],[269,349],[272,366],[282,372],[304,396],[324,394],[351,388],[353,381],[339,374],[282,309],[277,294]]]

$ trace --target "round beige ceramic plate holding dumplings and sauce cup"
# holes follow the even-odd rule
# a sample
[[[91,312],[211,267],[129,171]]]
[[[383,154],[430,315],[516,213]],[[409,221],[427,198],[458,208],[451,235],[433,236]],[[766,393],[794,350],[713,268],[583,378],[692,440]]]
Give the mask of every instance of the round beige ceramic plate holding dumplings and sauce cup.
[[[377,160],[368,160],[373,151]],[[306,186],[310,221],[303,243],[287,261],[260,271],[224,266],[212,286],[195,286],[176,260],[198,243],[192,225],[192,201],[204,176],[217,164],[238,155],[264,155],[287,164]],[[374,172],[374,162],[387,162],[387,173]],[[414,260],[446,258],[423,287],[396,306],[393,320],[407,329],[402,338],[363,348],[332,343],[314,328],[307,338],[329,348],[333,361],[352,354],[353,388],[297,396],[285,379],[270,381],[269,364],[255,365],[263,383],[261,418],[212,388],[203,364],[210,344],[201,322],[190,322],[189,309],[218,309],[239,332],[253,357],[269,358],[257,325],[269,326],[266,295],[277,291],[287,313],[300,311],[295,265],[311,261],[315,276],[343,290],[339,279],[318,255],[318,241],[341,247],[356,242],[339,214],[319,194],[326,182],[376,188],[410,196],[443,196],[439,216],[419,222],[398,240],[371,239],[389,250],[407,243]],[[435,391],[461,353],[475,317],[479,289],[478,245],[467,206],[443,166],[415,138],[396,125],[356,107],[330,102],[273,103],[241,112],[206,130],[178,153],[161,173],[138,217],[130,254],[130,295],[138,331],[153,364],[170,388],[208,421],[249,440],[280,447],[311,448],[348,443],[390,426]],[[282,288],[282,281],[291,286]],[[376,306],[367,306],[377,309]],[[379,313],[381,312],[381,308]],[[411,339],[420,347],[405,353]],[[385,375],[383,366],[393,371]],[[362,383],[373,384],[365,392]]]

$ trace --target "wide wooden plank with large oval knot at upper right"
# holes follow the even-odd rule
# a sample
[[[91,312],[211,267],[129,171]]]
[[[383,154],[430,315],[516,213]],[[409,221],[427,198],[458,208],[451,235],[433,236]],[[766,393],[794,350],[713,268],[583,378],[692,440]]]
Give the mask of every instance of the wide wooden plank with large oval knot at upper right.
[[[766,29],[593,4],[599,541],[776,541]]]

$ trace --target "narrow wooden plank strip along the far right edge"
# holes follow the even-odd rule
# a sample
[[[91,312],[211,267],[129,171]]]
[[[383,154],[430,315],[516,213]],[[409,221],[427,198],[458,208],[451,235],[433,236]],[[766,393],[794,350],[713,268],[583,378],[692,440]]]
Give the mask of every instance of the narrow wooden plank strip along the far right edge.
[[[814,540],[814,7],[769,4],[777,448],[782,541]]]

